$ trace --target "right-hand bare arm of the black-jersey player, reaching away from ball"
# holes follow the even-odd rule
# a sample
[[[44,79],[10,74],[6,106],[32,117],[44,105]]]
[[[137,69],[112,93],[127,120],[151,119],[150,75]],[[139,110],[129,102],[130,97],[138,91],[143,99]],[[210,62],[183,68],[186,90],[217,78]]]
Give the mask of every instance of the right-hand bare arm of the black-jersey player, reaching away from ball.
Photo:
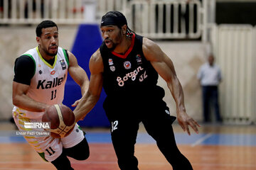
[[[161,50],[159,45],[156,45],[155,42],[144,38],[142,50],[146,57],[146,60],[149,60],[156,69],[156,72],[166,81],[171,95],[174,97],[176,102],[176,113],[179,125],[183,128],[184,131],[188,132],[190,135],[190,130],[188,125],[198,133],[198,128],[200,125],[193,120],[187,113],[184,105],[184,95],[181,84],[176,76],[174,69],[174,64],[171,59]]]

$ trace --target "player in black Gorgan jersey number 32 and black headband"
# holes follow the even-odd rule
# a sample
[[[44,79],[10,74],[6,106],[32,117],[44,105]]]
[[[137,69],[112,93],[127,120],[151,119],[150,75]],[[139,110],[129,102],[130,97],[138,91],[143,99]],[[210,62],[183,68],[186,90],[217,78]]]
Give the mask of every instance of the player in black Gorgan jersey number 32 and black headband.
[[[176,101],[181,128],[190,135],[190,125],[198,133],[198,123],[186,113],[173,63],[156,43],[133,33],[118,11],[102,16],[100,30],[104,42],[90,59],[90,86],[75,108],[76,120],[95,106],[103,86],[107,94],[103,107],[112,125],[112,143],[120,169],[138,169],[134,145],[140,122],[174,170],[192,169],[176,146],[171,126],[175,117],[162,100],[164,89],[156,85],[160,74]]]

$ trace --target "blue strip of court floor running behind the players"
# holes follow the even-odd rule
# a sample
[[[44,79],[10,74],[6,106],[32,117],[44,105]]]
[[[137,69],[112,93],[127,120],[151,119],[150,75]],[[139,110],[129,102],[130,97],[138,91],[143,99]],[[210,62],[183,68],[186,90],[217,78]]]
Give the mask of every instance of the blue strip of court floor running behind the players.
[[[178,125],[174,125],[174,132]],[[219,125],[218,125],[219,126]],[[221,127],[218,127],[221,128]],[[223,126],[223,128],[227,128]],[[231,128],[232,127],[228,127]],[[239,126],[236,126],[239,128]],[[245,128],[245,126],[242,126]],[[247,127],[256,128],[256,126]],[[104,130],[87,130],[85,135],[87,141],[90,143],[111,143],[110,132],[107,129]],[[192,131],[192,130],[191,130]],[[228,132],[200,132],[199,134],[192,133],[190,136],[185,132],[175,132],[176,142],[178,145],[230,145],[230,146],[256,146],[256,134],[251,130],[247,132],[237,132],[235,130]],[[26,142],[21,135],[17,135],[16,130],[0,130],[0,143],[23,143]],[[141,144],[154,144],[155,141],[144,130],[140,130],[137,136],[137,143]]]

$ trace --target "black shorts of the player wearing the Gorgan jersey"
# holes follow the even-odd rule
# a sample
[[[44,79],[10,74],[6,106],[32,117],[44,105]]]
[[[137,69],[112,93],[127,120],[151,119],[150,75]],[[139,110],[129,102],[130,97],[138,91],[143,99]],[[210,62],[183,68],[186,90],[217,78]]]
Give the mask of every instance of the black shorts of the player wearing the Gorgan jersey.
[[[106,98],[103,108],[110,124],[123,128],[137,126],[140,122],[144,125],[171,125],[176,117],[170,115],[169,108],[162,98]],[[137,128],[136,128],[137,129]],[[113,131],[113,130],[112,130]]]

